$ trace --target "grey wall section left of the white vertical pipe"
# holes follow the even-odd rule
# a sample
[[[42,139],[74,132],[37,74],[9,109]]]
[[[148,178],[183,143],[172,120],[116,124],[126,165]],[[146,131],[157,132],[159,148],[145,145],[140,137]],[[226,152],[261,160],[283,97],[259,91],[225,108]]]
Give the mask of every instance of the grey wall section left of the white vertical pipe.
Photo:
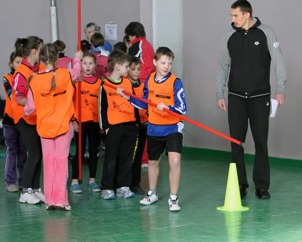
[[[10,71],[10,54],[14,51],[17,37],[37,35],[45,40],[51,39],[49,1],[6,1],[0,8],[1,56],[0,71],[4,76]],[[26,18],[24,17],[26,16]],[[35,26],[34,28],[32,28]],[[2,80],[2,78],[1,78]],[[1,86],[2,87],[2,86]],[[1,99],[5,99],[0,88]]]

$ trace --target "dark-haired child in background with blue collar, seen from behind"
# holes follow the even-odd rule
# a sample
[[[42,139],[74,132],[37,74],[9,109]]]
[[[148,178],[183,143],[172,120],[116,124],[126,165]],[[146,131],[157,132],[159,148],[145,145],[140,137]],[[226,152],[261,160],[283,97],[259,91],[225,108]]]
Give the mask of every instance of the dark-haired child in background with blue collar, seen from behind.
[[[108,55],[110,52],[104,49],[105,39],[102,34],[93,34],[90,41],[94,48],[93,54],[97,57],[95,77],[101,79],[108,72]]]

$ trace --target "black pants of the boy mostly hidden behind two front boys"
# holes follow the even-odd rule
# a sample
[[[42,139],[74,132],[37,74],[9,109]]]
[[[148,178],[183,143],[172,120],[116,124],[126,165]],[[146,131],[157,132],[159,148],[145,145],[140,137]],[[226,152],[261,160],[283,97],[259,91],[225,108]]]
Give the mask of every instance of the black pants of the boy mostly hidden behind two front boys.
[[[145,125],[146,126],[146,125]],[[143,127],[138,131],[138,144],[132,166],[131,187],[138,186],[141,178],[141,159],[147,139],[147,129]]]

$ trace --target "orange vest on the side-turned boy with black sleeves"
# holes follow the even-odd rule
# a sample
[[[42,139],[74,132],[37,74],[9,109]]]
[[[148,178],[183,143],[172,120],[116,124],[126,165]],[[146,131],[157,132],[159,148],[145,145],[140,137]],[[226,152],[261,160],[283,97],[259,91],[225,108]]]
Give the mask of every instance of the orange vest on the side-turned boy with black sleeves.
[[[122,82],[113,84],[107,78],[104,79],[105,83],[121,87],[125,91],[132,93],[132,84],[129,79],[122,77]],[[116,90],[109,88],[105,85],[102,86],[107,94],[108,109],[107,117],[111,125],[135,122],[134,107],[123,97],[116,93]]]

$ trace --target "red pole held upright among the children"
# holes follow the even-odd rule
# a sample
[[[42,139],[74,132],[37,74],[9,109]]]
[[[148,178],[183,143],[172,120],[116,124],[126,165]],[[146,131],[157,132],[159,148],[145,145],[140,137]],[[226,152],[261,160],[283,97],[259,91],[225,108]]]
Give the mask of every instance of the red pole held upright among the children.
[[[78,0],[78,50],[81,50],[81,0]],[[82,96],[81,82],[78,82],[78,107],[79,107],[79,184],[82,184]]]

